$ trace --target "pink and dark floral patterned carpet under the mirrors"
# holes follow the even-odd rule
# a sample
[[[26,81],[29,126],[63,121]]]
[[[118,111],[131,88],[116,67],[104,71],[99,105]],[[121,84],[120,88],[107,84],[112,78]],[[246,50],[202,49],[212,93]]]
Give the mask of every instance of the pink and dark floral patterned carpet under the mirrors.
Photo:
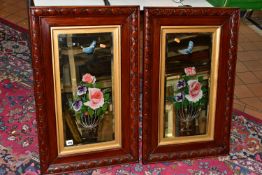
[[[27,35],[0,20],[0,43],[0,175],[40,174]],[[262,174],[261,124],[245,114],[235,113],[229,156],[149,165],[127,164],[72,174]]]

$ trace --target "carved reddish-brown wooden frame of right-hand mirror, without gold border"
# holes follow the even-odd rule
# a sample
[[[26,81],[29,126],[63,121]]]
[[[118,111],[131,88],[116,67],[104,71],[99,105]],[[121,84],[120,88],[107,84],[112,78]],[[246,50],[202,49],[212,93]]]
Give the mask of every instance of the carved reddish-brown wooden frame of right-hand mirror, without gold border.
[[[214,139],[159,145],[161,26],[221,26]],[[239,27],[238,9],[145,8],[143,70],[143,163],[227,154]]]

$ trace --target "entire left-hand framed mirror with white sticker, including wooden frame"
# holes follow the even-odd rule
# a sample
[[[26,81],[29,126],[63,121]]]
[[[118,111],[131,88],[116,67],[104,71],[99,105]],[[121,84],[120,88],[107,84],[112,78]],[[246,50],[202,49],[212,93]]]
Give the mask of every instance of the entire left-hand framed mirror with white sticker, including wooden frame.
[[[43,174],[138,160],[138,19],[138,7],[30,8]]]

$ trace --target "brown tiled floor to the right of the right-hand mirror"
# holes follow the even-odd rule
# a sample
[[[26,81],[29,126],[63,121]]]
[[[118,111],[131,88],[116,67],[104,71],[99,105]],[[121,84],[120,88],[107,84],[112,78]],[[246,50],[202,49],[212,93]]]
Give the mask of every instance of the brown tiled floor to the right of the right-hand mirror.
[[[262,119],[262,30],[242,20],[238,43],[234,108]]]

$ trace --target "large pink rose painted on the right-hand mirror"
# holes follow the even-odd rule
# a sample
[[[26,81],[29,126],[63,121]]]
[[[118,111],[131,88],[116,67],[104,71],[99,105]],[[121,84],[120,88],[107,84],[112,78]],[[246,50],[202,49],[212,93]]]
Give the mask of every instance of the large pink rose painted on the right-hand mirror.
[[[189,86],[189,94],[186,95],[188,101],[197,102],[203,97],[203,92],[201,90],[201,83],[197,80],[189,80],[187,82]]]

